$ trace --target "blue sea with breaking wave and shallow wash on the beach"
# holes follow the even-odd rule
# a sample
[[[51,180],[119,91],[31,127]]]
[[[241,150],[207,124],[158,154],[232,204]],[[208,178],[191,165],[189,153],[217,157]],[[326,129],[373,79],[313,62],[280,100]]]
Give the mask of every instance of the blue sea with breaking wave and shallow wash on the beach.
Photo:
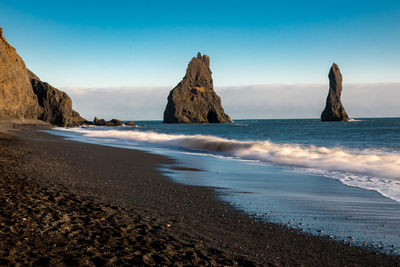
[[[400,118],[136,123],[48,132],[174,158],[185,168],[160,165],[164,175],[212,187],[254,220],[400,254]]]

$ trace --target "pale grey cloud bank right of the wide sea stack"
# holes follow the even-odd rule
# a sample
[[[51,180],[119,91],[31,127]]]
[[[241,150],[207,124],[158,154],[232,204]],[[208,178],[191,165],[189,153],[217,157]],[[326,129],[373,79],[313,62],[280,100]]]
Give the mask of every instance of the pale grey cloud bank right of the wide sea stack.
[[[223,87],[224,107],[234,118],[319,118],[326,84]],[[350,117],[400,116],[400,83],[344,84],[342,103]]]

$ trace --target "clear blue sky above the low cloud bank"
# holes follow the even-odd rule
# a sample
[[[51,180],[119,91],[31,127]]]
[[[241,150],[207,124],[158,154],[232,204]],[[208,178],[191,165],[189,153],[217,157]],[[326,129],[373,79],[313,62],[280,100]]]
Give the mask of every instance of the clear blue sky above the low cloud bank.
[[[0,26],[58,87],[174,86],[198,51],[217,86],[400,82],[400,1],[10,1]]]

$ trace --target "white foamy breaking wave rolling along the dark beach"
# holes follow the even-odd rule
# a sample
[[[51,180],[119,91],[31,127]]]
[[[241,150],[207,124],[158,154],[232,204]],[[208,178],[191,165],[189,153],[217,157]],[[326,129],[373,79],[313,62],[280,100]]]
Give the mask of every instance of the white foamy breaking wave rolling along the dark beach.
[[[276,144],[269,141],[237,141],[215,136],[162,134],[138,130],[73,128],[67,131],[92,138],[118,138],[168,145],[306,168],[310,171],[317,170],[320,174],[339,179],[344,184],[375,190],[400,202],[400,153]]]

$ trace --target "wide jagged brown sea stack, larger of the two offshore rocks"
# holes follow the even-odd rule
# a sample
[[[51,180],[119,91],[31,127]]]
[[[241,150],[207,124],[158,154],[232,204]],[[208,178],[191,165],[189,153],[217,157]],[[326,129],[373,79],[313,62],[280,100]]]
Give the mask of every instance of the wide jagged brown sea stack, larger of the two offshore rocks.
[[[168,95],[164,123],[232,122],[214,91],[211,74],[210,58],[199,52],[189,62],[183,80]]]

